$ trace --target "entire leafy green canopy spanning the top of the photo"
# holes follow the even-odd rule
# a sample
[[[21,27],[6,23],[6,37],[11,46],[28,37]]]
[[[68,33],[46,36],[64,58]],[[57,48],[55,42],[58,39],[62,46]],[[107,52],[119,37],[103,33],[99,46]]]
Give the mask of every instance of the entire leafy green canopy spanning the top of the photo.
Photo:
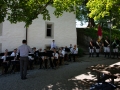
[[[49,5],[55,8],[56,17],[64,11],[74,12],[78,20],[111,18],[116,26],[120,25],[119,0],[0,0],[0,23],[7,19],[11,23],[24,22],[29,27],[40,14],[44,20],[50,20]]]

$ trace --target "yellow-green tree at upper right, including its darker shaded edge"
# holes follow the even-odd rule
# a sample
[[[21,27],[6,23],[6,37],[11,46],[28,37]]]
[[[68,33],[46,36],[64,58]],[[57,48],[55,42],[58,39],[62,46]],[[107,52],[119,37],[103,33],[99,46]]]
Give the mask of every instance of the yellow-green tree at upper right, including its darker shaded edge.
[[[120,1],[119,0],[88,0],[89,16],[94,20],[112,20],[113,25],[120,25]]]

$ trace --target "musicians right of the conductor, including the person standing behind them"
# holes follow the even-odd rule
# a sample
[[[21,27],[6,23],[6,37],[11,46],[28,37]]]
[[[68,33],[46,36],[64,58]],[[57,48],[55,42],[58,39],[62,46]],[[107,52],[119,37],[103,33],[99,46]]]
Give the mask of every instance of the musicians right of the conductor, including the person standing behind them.
[[[39,49],[36,50],[36,48],[33,48],[34,52],[34,62],[37,63],[37,60],[39,60],[39,69],[48,67],[56,68],[59,65],[62,65],[64,61],[73,61],[75,62],[76,55],[78,54],[78,48],[76,45],[74,47],[72,44],[70,44],[69,47],[60,47],[57,48],[55,41],[51,43],[50,49]]]

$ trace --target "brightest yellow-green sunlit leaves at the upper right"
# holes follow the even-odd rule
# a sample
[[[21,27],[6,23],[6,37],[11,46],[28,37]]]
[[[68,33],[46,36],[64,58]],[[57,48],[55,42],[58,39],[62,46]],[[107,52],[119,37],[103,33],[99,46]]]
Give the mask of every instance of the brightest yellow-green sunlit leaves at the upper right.
[[[113,7],[115,0],[89,0],[87,7],[90,10],[90,17],[94,17],[95,20],[109,16],[110,10]]]

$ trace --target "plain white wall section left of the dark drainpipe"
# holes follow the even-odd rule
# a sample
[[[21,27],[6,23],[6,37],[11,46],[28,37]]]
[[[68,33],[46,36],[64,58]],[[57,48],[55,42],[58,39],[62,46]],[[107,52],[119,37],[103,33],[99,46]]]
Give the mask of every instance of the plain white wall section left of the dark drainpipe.
[[[3,23],[2,36],[0,36],[2,52],[5,49],[11,51],[22,43],[22,39],[25,39],[24,25],[24,23],[11,24],[9,21]]]

